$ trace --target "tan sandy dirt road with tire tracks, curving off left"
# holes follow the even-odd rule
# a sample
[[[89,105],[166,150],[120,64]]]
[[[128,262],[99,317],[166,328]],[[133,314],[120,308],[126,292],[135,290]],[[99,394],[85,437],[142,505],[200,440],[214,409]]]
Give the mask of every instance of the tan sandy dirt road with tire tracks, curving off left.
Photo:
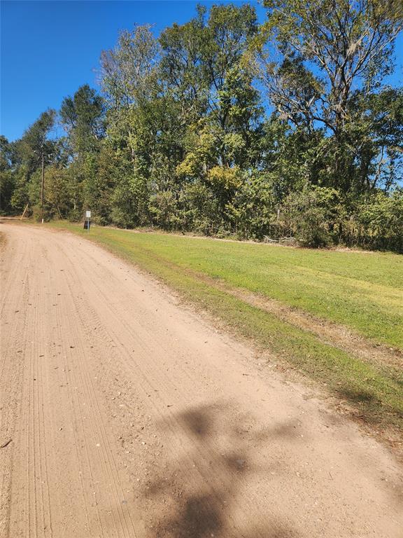
[[[402,469],[161,284],[3,223],[9,538],[403,536]]]

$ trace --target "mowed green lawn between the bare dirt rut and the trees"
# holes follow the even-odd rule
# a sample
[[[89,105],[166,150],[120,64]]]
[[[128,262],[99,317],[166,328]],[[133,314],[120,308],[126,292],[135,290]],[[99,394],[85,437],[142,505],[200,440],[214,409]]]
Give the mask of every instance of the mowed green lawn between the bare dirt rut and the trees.
[[[403,349],[403,256],[136,234],[134,244]]]

